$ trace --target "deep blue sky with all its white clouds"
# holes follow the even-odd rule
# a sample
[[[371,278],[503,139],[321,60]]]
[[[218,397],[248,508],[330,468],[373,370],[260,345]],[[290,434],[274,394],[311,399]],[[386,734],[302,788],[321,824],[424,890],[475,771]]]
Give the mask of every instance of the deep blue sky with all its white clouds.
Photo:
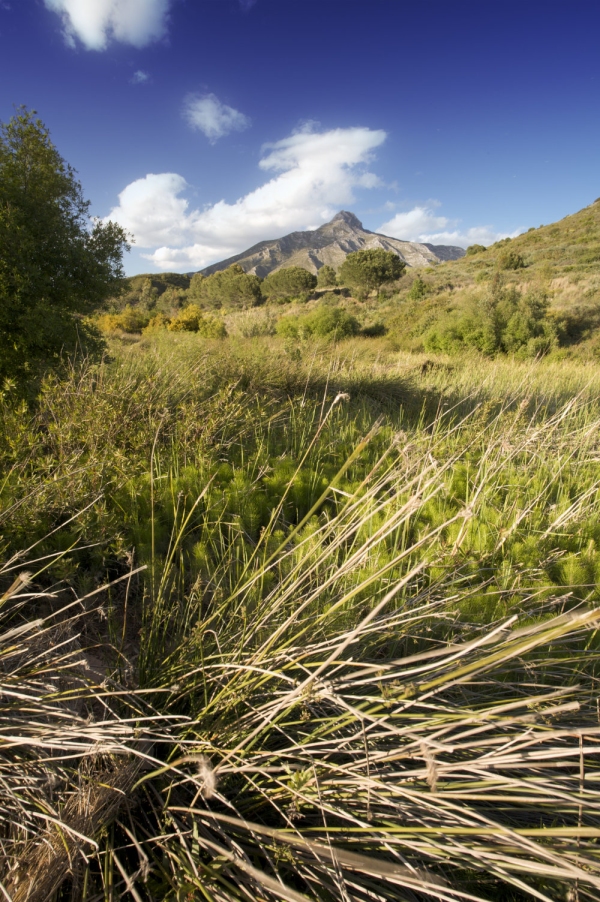
[[[130,274],[350,209],[489,243],[600,195],[600,4],[0,0],[0,119],[35,108]]]

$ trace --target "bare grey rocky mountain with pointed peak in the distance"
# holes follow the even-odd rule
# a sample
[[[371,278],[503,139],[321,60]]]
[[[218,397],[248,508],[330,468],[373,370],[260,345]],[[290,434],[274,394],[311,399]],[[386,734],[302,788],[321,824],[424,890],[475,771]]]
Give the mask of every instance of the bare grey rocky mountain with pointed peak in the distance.
[[[326,263],[337,269],[353,251],[374,247],[393,251],[409,266],[458,260],[465,253],[462,247],[418,244],[369,232],[354,213],[341,210],[331,222],[314,231],[292,232],[283,238],[261,241],[241,254],[207,266],[202,270],[202,275],[210,276],[227,269],[232,263],[238,263],[245,272],[254,273],[261,279],[283,266],[301,266],[316,273]]]

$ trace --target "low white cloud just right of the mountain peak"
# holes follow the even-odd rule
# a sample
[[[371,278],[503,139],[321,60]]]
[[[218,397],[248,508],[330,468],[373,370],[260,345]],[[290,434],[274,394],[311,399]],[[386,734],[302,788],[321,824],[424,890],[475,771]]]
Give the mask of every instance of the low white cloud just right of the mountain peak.
[[[461,229],[460,220],[448,219],[436,213],[438,201],[413,207],[405,213],[396,213],[393,219],[384,222],[378,229],[383,235],[401,238],[404,241],[419,241],[423,244],[452,244],[468,247],[470,244],[493,244],[501,238],[514,238],[519,231],[497,232],[492,226],[473,226]]]

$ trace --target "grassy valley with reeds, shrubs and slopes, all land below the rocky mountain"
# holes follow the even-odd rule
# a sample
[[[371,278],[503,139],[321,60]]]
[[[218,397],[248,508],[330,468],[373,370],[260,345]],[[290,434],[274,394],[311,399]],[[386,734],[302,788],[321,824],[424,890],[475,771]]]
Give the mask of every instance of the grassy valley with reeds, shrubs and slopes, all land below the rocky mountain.
[[[600,897],[600,203],[347,261],[6,383],[7,898]]]

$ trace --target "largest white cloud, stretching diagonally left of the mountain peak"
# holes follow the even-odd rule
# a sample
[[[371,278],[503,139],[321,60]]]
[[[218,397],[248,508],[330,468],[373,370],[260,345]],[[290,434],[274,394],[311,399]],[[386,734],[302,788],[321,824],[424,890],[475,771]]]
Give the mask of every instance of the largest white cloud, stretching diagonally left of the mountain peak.
[[[119,195],[108,219],[131,232],[144,256],[160,269],[201,269],[258,241],[317,228],[355,200],[354,189],[376,184],[367,167],[386,138],[381,130],[304,129],[266,145],[260,168],[272,174],[235,203],[220,200],[203,210],[181,197],[176,173],[146,175]]]

